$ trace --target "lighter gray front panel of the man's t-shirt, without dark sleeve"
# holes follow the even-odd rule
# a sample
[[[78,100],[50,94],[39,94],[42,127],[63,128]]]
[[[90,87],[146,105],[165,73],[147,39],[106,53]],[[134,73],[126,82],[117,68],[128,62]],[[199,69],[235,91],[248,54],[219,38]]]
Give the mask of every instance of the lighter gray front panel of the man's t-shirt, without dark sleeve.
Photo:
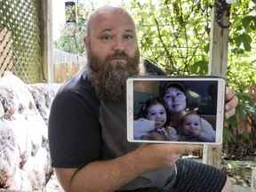
[[[140,143],[127,141],[126,113],[124,111],[126,111],[124,103],[100,102],[102,138],[108,150],[112,151],[114,156],[123,156],[140,146]],[[166,180],[171,176],[174,177],[174,169],[175,167],[172,166],[154,172],[145,172],[122,189],[127,190],[141,187],[163,188]]]

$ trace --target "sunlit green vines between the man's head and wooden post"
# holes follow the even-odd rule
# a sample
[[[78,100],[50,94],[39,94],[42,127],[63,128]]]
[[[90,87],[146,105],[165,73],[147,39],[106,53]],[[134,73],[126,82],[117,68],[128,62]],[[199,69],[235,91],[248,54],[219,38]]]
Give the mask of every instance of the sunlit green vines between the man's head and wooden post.
[[[143,57],[170,75],[207,74],[212,7],[208,1],[134,0],[130,6]]]

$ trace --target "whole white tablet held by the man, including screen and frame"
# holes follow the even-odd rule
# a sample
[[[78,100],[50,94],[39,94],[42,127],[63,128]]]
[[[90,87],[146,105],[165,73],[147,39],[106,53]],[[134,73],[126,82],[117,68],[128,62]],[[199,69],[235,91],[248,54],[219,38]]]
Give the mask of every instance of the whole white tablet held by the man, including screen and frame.
[[[216,76],[127,79],[127,140],[222,143],[225,80]]]

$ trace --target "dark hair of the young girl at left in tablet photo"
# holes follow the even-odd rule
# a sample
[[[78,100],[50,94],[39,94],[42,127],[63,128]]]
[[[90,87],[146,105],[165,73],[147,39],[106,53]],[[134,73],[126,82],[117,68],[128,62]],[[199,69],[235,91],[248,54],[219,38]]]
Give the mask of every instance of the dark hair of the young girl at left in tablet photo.
[[[136,119],[147,118],[148,108],[150,108],[151,106],[154,106],[156,104],[161,104],[161,105],[164,106],[164,110],[165,110],[165,113],[166,113],[166,122],[165,122],[164,126],[166,124],[169,124],[170,123],[170,118],[168,116],[168,107],[166,106],[164,100],[162,100],[159,97],[153,97],[153,98],[150,98],[146,101],[140,102],[141,107],[140,107],[140,111],[139,111],[138,115],[136,116]]]

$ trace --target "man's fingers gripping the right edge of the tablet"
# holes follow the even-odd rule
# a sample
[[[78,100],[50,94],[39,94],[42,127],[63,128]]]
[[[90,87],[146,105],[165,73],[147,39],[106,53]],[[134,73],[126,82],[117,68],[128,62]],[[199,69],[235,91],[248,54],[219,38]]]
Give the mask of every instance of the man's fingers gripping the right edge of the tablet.
[[[225,117],[228,119],[236,113],[236,106],[238,104],[238,99],[235,92],[233,92],[228,87],[226,88],[226,104],[225,104]]]

